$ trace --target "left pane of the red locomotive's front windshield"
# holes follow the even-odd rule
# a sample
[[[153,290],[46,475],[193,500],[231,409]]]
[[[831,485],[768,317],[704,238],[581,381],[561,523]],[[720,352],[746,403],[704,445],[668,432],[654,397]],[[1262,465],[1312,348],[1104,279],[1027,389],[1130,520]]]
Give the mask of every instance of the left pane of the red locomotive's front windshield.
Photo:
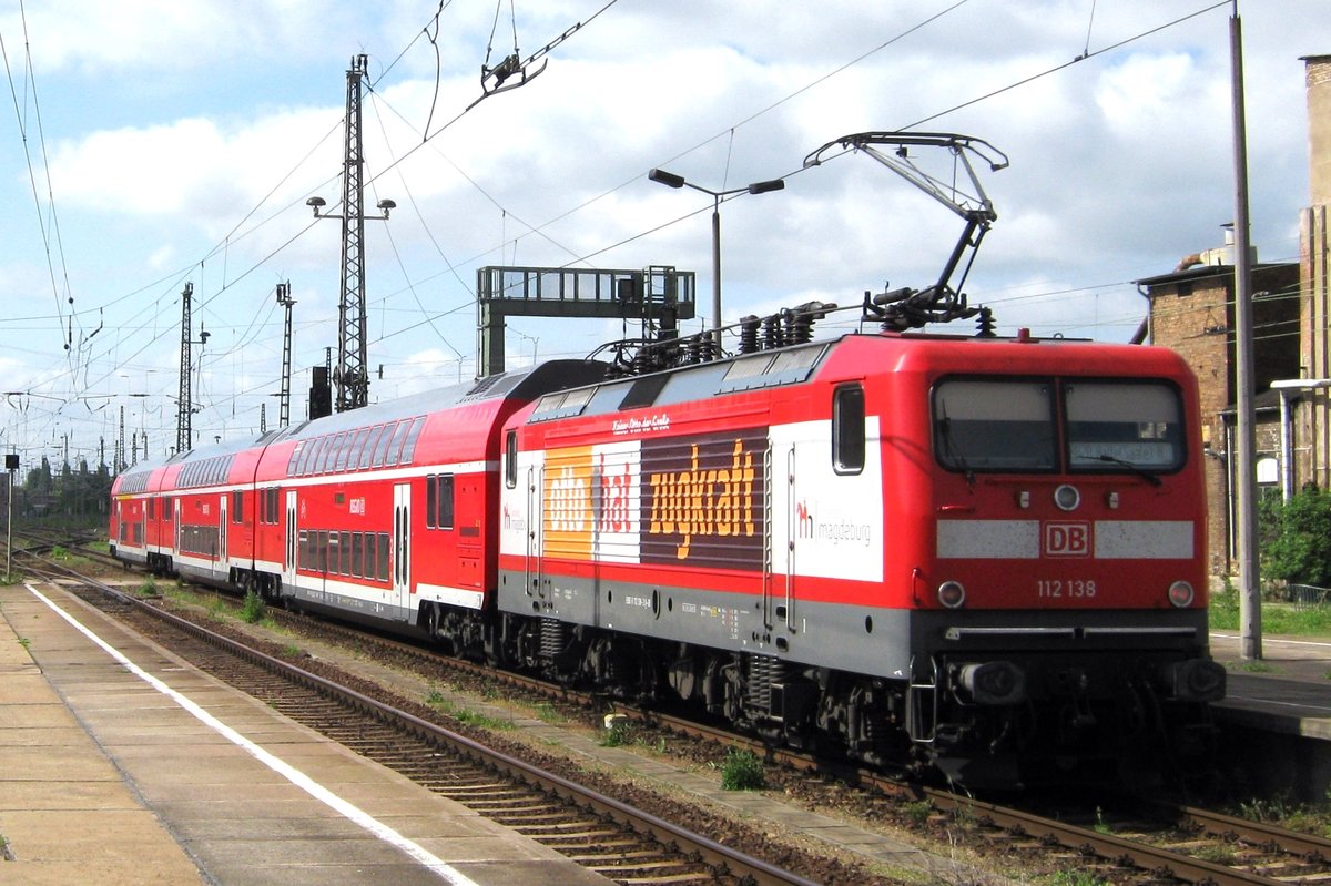
[[[1058,467],[1053,386],[1028,379],[948,379],[933,391],[933,450],[953,471]]]

